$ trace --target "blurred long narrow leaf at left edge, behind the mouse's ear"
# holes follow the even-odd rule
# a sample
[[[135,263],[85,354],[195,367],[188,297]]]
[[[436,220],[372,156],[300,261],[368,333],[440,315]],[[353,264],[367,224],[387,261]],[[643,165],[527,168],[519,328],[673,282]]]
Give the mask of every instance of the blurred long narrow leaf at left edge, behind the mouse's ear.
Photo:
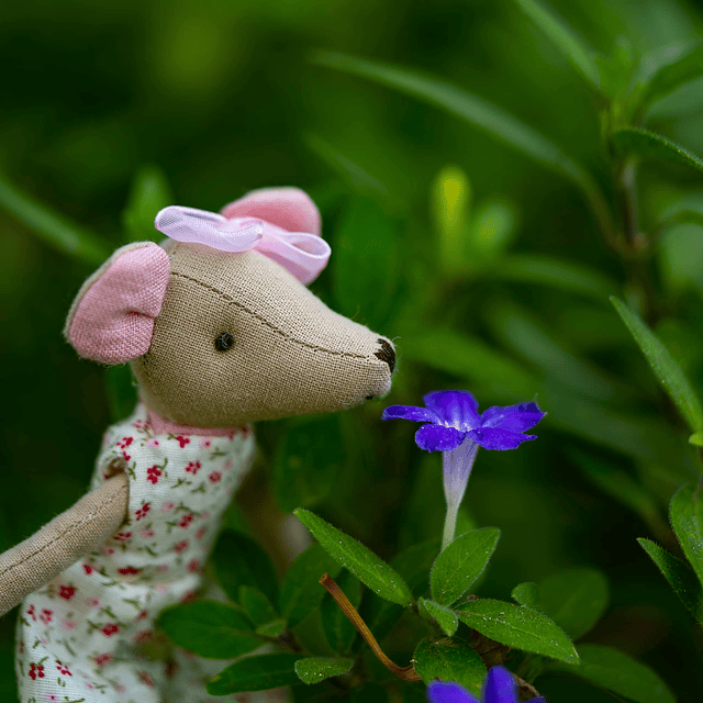
[[[110,245],[96,234],[34,200],[1,176],[0,207],[49,246],[86,264],[102,264],[111,254]]]

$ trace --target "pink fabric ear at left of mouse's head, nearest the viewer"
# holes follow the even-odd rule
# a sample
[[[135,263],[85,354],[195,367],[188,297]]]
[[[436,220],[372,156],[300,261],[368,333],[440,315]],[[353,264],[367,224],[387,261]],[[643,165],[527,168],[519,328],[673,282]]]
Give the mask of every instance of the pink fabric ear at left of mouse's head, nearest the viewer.
[[[76,295],[66,338],[80,356],[102,364],[146,354],[169,274],[168,255],[152,242],[118,249]]]

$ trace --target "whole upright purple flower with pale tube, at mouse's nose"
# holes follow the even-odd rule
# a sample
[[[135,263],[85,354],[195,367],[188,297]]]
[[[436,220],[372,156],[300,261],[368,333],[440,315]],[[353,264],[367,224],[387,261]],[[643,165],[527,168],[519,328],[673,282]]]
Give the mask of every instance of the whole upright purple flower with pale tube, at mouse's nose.
[[[410,420],[425,424],[415,433],[415,443],[427,451],[442,451],[444,458],[444,494],[447,515],[444,522],[444,549],[456,532],[459,504],[479,447],[515,449],[535,435],[523,434],[544,416],[536,403],[494,405],[479,415],[479,403],[469,391],[434,391],[423,400],[425,408],[391,405],[383,420]]]

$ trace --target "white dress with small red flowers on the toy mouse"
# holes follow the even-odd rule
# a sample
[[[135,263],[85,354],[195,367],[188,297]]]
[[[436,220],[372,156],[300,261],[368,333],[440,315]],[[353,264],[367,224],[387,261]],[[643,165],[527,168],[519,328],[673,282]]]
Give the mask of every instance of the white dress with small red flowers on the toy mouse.
[[[18,616],[21,703],[212,702],[226,662],[148,656],[159,612],[202,587],[202,567],[254,456],[248,426],[226,436],[152,432],[144,405],[104,435],[90,488],[130,477],[129,520],[100,550],[31,593]],[[241,696],[237,696],[241,698]],[[222,701],[223,699],[216,699]]]

